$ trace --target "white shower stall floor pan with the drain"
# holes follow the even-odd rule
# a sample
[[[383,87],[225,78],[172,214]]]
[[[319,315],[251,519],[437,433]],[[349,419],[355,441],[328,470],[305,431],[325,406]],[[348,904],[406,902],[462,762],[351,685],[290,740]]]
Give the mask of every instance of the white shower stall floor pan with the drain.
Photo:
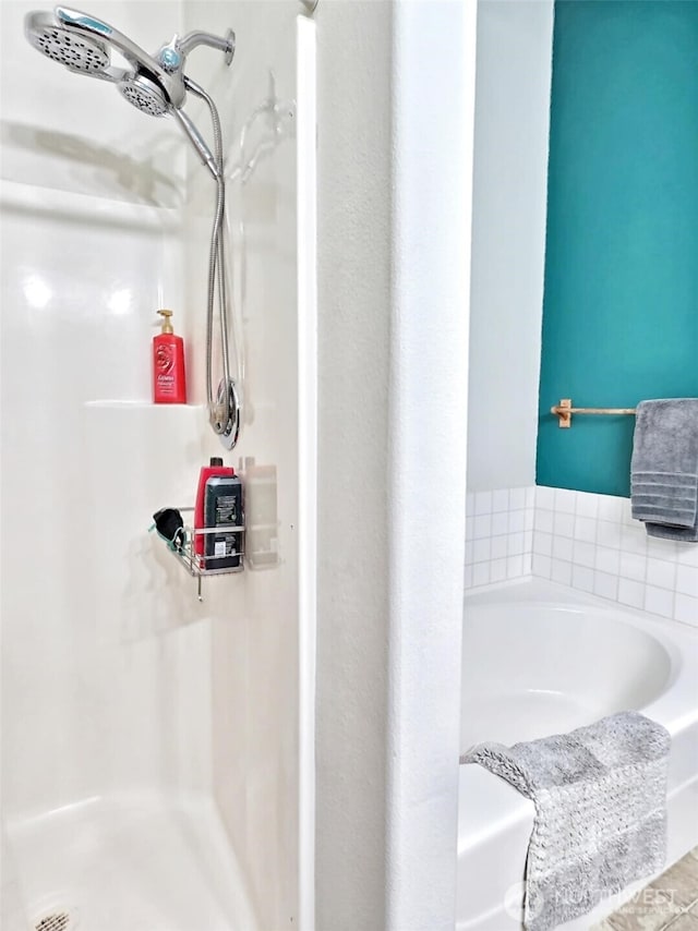
[[[8,823],[24,911],[61,931],[249,931],[256,921],[206,796],[95,797]],[[47,916],[68,916],[56,923]],[[12,922],[10,922],[10,927]]]

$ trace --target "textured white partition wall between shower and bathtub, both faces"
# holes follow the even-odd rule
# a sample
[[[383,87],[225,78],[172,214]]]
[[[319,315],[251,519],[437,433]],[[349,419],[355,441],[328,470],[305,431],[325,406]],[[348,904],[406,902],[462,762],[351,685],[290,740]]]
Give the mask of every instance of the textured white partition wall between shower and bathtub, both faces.
[[[317,10],[322,931],[454,923],[473,12]]]

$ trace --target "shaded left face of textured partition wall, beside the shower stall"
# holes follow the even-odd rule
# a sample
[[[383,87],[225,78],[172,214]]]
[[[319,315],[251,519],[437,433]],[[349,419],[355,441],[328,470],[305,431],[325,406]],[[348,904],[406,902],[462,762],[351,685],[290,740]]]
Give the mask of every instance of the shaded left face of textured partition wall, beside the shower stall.
[[[318,931],[384,928],[393,4],[321,0]]]

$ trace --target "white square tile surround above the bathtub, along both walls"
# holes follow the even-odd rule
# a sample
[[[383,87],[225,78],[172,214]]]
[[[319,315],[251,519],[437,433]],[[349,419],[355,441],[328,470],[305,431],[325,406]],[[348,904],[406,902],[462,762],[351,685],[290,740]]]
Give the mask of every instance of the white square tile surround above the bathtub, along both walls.
[[[532,575],[698,627],[698,545],[648,537],[628,498],[479,492],[466,524],[467,589]]]

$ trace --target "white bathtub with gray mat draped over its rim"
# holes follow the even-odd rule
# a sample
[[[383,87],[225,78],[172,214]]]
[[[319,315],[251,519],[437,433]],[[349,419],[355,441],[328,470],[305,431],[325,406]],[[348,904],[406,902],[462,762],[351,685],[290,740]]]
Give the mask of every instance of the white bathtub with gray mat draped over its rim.
[[[698,631],[540,579],[466,598],[461,747],[515,743],[641,711],[672,735],[669,858],[698,844]],[[460,767],[458,931],[520,928],[533,803],[477,765]],[[588,931],[627,899],[561,926]]]

